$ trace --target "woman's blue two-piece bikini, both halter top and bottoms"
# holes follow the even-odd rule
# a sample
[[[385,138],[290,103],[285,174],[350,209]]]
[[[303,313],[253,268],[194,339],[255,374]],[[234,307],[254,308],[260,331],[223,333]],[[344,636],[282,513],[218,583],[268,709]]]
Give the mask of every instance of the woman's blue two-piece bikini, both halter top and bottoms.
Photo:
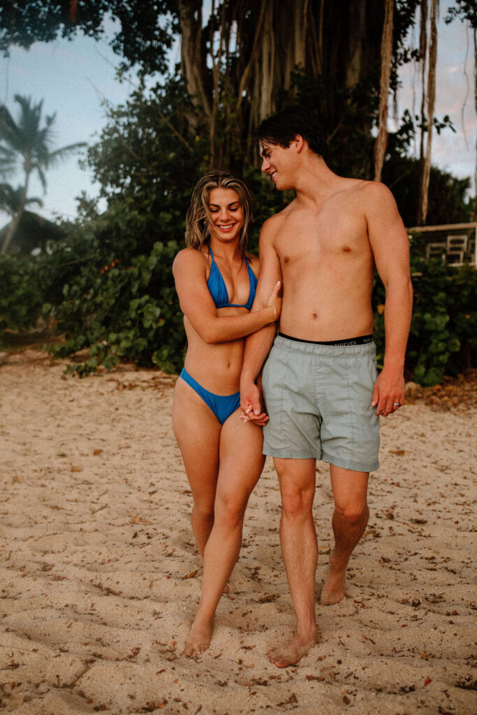
[[[255,273],[250,268],[248,261],[245,259],[245,265],[247,266],[248,280],[250,282],[250,292],[248,294],[248,300],[245,305],[239,303],[229,302],[229,294],[227,292],[227,286],[225,285],[225,280],[214,260],[214,255],[212,249],[209,247],[210,255],[212,257],[212,264],[210,265],[210,276],[207,280],[207,288],[209,289],[210,295],[215,303],[216,308],[224,307],[243,307],[250,310],[252,307],[253,300],[255,298],[255,290],[257,288],[257,277]],[[209,407],[215,414],[217,420],[223,425],[225,420],[232,415],[235,410],[237,410],[240,405],[240,393],[234,393],[233,395],[215,395],[215,393],[210,393],[209,390],[202,388],[202,385],[197,383],[197,380],[187,373],[185,368],[182,368],[182,373],[180,373],[182,380],[185,380],[187,385],[190,385],[192,390],[195,390],[197,395],[199,395],[202,400],[204,400],[207,407]]]

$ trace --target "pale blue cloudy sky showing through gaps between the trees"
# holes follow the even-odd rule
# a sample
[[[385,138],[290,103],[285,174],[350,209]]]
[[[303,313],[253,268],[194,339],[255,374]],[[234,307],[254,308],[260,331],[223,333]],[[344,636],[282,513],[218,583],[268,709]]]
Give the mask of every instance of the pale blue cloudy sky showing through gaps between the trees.
[[[451,1],[441,1],[438,31],[438,71],[436,116],[449,114],[456,134],[446,129],[433,134],[433,164],[455,174],[472,177],[476,167],[477,117],[473,97],[473,39],[471,31],[461,21],[444,24],[446,9]],[[107,26],[107,34],[113,29]],[[418,44],[417,29],[413,46]],[[36,42],[29,50],[14,47],[9,58],[0,57],[0,102],[16,116],[15,94],[31,96],[38,102],[44,99],[44,114],[56,112],[56,147],[74,142],[93,144],[107,123],[104,102],[117,106],[127,100],[132,91],[130,81],[119,83],[116,66],[120,58],[107,44],[107,39],[77,36],[72,41],[57,39],[51,43]],[[179,61],[179,47],[172,50],[171,62]],[[420,106],[419,76],[415,63],[405,65],[400,72],[402,87],[398,92],[398,117],[404,109],[417,113]],[[391,110],[391,108],[390,108]],[[395,122],[390,119],[390,129]],[[79,168],[79,152],[59,167],[46,174],[47,193],[41,185],[31,183],[30,196],[41,197],[44,207],[32,209],[49,219],[73,219],[77,215],[76,197],[86,192],[96,197],[99,185],[92,181],[91,172]],[[15,186],[18,180],[11,179]],[[0,226],[9,217],[0,212]]]

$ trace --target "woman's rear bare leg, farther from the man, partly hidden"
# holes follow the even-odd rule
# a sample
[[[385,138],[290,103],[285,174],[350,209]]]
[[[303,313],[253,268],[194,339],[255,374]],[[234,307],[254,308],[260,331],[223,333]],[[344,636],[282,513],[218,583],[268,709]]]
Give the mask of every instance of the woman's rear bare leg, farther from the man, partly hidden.
[[[192,531],[204,563],[205,544],[214,526],[222,425],[204,400],[182,378],[177,380],[174,388],[172,429],[192,490]]]

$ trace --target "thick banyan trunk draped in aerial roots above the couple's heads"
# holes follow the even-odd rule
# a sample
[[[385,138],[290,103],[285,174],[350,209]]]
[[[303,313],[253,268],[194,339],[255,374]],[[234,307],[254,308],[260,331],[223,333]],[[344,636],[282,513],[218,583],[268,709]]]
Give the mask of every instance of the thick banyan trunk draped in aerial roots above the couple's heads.
[[[308,78],[323,74],[337,96],[340,89],[352,92],[363,79],[378,85],[383,0],[215,0],[212,6],[215,44],[210,28],[202,27],[202,1],[178,0],[182,74],[199,117],[192,126],[201,120],[205,125],[212,161],[220,157],[223,165],[237,165],[237,158],[231,159],[236,147],[242,148],[242,161],[251,158],[250,129],[280,103],[295,101],[295,68]],[[230,112],[231,97],[236,112]],[[329,92],[317,104],[323,124],[333,132],[342,122],[341,110]],[[227,117],[234,117],[235,126]],[[369,134],[371,124],[372,117],[363,113],[356,129]]]

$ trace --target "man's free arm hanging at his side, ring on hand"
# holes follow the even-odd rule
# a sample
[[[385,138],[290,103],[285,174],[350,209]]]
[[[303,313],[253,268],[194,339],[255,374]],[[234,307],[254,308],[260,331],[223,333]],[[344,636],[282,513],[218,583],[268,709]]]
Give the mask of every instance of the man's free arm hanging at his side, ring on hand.
[[[384,184],[369,185],[365,205],[370,245],[386,291],[384,366],[371,405],[377,415],[387,417],[404,404],[404,358],[413,307],[409,240],[393,194]]]

